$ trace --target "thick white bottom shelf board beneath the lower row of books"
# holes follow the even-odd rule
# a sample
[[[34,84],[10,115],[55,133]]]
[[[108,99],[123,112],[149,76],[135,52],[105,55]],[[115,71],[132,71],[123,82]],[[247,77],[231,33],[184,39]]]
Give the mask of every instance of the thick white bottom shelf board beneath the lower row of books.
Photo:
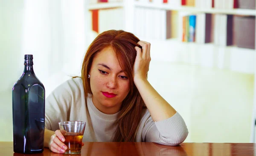
[[[199,65],[244,74],[254,74],[255,72],[256,51],[254,49],[236,46],[225,47],[213,43],[179,42],[175,39],[145,41],[151,43],[151,60],[154,61]]]

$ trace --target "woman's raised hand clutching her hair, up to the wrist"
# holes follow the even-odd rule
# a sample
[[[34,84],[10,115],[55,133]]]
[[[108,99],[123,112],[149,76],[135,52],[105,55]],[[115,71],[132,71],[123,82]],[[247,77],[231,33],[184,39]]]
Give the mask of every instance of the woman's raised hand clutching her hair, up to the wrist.
[[[147,79],[146,75],[149,70],[150,57],[150,43],[145,41],[139,41],[138,44],[142,46],[142,49],[135,47],[137,51],[136,59],[133,67],[134,79]]]

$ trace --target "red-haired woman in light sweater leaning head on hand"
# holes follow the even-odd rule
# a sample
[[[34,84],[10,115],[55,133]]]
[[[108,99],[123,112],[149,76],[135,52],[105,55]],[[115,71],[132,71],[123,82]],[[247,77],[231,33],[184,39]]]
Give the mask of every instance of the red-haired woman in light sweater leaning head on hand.
[[[83,142],[183,142],[188,135],[183,118],[147,80],[150,60],[150,43],[134,34],[99,34],[84,57],[81,77],[46,99],[44,146],[64,153],[58,122],[71,120],[86,122]]]

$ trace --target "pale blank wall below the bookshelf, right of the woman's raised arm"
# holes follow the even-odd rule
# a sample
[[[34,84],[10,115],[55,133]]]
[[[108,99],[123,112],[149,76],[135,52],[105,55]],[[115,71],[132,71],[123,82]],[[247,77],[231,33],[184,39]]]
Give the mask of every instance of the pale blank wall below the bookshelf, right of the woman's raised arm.
[[[151,61],[148,80],[184,118],[185,142],[250,142],[252,74]]]

